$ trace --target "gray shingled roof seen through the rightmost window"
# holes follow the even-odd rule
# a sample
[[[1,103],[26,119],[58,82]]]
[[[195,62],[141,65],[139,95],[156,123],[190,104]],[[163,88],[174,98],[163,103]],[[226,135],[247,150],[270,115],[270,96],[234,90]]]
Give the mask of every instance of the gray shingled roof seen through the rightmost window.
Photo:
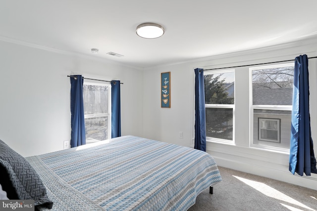
[[[293,88],[253,89],[253,105],[292,105]]]

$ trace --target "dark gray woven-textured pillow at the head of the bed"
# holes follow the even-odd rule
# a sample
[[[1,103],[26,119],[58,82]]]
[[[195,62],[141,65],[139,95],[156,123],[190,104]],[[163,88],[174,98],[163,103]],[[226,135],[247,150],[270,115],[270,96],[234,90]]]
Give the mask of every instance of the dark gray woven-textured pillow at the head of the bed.
[[[35,207],[42,206],[50,209],[53,207],[53,202],[48,198],[38,173],[29,162],[1,140],[0,167],[4,169],[1,170],[1,178],[9,178],[11,182],[11,188],[5,190],[6,192],[15,192],[17,199],[20,200],[34,200]]]

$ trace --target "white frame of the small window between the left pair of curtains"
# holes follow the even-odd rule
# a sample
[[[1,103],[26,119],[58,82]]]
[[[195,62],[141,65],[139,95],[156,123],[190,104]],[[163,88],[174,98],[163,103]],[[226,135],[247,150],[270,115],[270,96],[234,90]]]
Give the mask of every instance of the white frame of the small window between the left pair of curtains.
[[[108,106],[108,113],[103,113],[103,114],[85,114],[84,115],[84,119],[89,119],[89,118],[96,118],[96,117],[108,117],[108,124],[107,124],[107,129],[108,129],[108,134],[105,140],[110,139],[111,138],[111,84],[107,84],[107,83],[103,83],[103,82],[85,82],[83,83],[83,85],[99,85],[99,86],[107,86],[108,88],[108,102],[107,102],[107,106]],[[85,108],[84,108],[84,112],[85,112]],[[85,122],[86,124],[86,122]],[[92,139],[89,138],[87,139],[86,137],[86,141],[87,140],[92,140],[92,141],[100,141],[97,139]]]

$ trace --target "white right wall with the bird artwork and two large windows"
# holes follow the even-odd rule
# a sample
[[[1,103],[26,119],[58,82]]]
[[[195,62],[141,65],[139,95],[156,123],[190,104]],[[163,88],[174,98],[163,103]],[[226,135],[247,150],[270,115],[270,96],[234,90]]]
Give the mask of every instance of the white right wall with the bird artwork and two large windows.
[[[163,65],[144,72],[144,127],[148,138],[184,146],[193,146],[194,137],[194,69],[219,68],[294,59],[300,54],[317,55],[317,39],[294,42],[252,51],[212,56],[185,64]],[[289,62],[290,63],[290,62]],[[317,59],[309,60],[311,124],[317,156]],[[235,68],[235,144],[207,143],[207,152],[219,166],[286,181],[317,190],[317,174],[293,175],[288,171],[288,153],[250,148],[249,67]],[[171,72],[171,108],[160,108],[160,73]],[[247,90],[247,91],[246,91]],[[238,94],[241,93],[242,94]],[[178,138],[179,131],[184,138]]]

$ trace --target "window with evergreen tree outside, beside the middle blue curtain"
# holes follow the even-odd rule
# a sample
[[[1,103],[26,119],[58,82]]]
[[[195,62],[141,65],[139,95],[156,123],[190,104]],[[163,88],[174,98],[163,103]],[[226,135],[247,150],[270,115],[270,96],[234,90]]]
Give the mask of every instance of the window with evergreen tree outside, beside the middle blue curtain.
[[[233,141],[234,71],[204,71],[208,140]]]

